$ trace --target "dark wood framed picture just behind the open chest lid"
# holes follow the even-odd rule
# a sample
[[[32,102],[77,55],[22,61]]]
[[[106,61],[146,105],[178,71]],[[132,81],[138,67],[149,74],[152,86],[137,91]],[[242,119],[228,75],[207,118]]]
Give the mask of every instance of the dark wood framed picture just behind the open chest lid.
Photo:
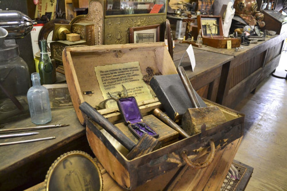
[[[158,42],[159,39],[159,24],[129,28],[129,43]]]

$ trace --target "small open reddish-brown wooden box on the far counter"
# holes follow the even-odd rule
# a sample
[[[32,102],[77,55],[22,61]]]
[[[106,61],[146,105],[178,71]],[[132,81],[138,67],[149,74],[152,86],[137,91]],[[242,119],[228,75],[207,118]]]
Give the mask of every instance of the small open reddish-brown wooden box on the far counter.
[[[240,46],[241,39],[223,36],[222,18],[219,15],[198,15],[197,26],[198,31],[201,29],[203,45],[227,48],[227,42],[231,41],[231,48]]]

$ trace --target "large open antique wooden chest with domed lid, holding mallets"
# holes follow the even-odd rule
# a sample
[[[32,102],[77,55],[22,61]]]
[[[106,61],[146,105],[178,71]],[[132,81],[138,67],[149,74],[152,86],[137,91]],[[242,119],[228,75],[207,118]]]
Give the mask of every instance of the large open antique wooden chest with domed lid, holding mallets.
[[[131,63],[135,63],[135,65],[131,66]],[[100,109],[99,106],[106,99],[107,93],[104,89],[113,91],[114,86],[119,86],[121,90],[123,84],[128,93],[133,94],[129,96],[135,96],[137,99],[144,121],[153,125],[149,118],[154,118],[151,115],[153,110],[162,108],[162,106],[149,84],[143,85],[141,83],[141,86],[146,86],[146,88],[139,87],[141,88],[140,91],[137,91],[138,88],[131,91],[133,87],[126,85],[125,82],[134,83],[137,79],[132,77],[133,75],[139,75],[146,80],[156,73],[162,75],[176,74],[177,70],[165,44],[158,42],[66,47],[63,51],[63,65],[77,117],[82,124],[86,124],[86,135],[90,147],[110,176],[123,188],[134,190],[139,185],[187,164],[190,159],[197,159],[209,153],[209,150],[212,150],[210,153],[213,155],[214,149],[223,148],[228,143],[243,136],[243,114],[205,100],[208,106],[217,105],[222,110],[227,119],[225,123],[209,130],[202,128],[201,133],[186,139],[170,132],[172,136],[168,136],[168,139],[164,141],[165,143],[169,142],[168,144],[162,145],[160,149],[149,154],[128,160],[125,157],[127,149],[116,143],[113,137],[96,122],[85,117],[79,110],[79,104],[88,102],[122,130],[125,128],[125,122],[123,122],[117,106],[105,109]],[[109,65],[110,67],[106,68]],[[101,69],[98,69],[99,66]],[[115,79],[115,82],[106,81],[110,75],[112,77],[115,75],[115,78],[120,77],[121,72],[126,69],[129,69],[130,72],[126,72],[124,76],[129,79],[124,79],[124,82],[119,81],[119,84],[117,84],[118,78]],[[148,95],[146,95],[147,91]],[[141,94],[145,95],[144,99],[138,97]],[[161,132],[155,130],[160,138]],[[131,134],[127,128],[122,131]],[[136,142],[137,139],[134,137],[133,141]],[[209,149],[209,145],[213,145],[213,142],[214,146]],[[188,155],[188,157],[184,157],[184,155]],[[211,159],[212,157],[208,158]],[[211,162],[208,161],[206,164]]]

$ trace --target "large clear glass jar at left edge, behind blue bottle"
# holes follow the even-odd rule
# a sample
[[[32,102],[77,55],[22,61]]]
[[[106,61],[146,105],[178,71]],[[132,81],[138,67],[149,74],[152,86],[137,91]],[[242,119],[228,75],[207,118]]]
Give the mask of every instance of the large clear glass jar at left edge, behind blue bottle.
[[[29,112],[29,88],[28,65],[19,56],[15,40],[5,40],[0,47],[0,124],[9,117]]]

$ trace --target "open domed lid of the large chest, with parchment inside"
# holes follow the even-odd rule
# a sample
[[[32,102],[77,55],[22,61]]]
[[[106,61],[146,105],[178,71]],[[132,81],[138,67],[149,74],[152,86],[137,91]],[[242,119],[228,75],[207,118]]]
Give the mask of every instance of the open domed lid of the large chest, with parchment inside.
[[[177,73],[163,42],[69,46],[63,50],[63,65],[81,124],[84,124],[79,110],[82,102],[98,108],[110,95],[121,94],[124,86],[128,96],[136,98],[139,108],[146,109],[149,104],[158,102],[148,83],[152,76]],[[119,120],[117,104],[112,102],[108,101],[108,108],[98,111],[102,115],[113,115],[113,121]]]

